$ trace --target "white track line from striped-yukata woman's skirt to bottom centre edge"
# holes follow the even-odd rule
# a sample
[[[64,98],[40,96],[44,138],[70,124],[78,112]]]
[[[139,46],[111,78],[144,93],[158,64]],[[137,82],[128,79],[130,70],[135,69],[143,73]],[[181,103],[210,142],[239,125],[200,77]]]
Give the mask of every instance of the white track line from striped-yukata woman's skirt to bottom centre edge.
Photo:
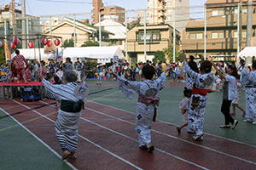
[[[43,116],[45,119],[49,120],[50,122],[54,122],[54,123],[55,123],[55,121],[53,121],[52,119],[50,119],[48,116],[44,116],[44,115],[41,114],[40,112],[35,111],[35,110],[33,110],[32,108],[30,108],[30,107],[28,107],[28,106],[26,106],[26,105],[23,105],[23,104],[21,104],[21,103],[18,102],[18,101],[15,101],[15,100],[13,100],[13,101],[14,101],[15,103],[19,104],[19,105],[22,105],[23,107],[26,107],[26,109],[30,109],[31,111],[37,113],[38,115]],[[49,104],[48,104],[48,105],[49,105]],[[111,152],[111,151],[109,151],[109,150],[103,148],[101,145],[92,142],[90,139],[86,139],[86,138],[84,138],[84,136],[82,136],[82,135],[80,135],[80,134],[79,134],[79,137],[80,137],[81,139],[84,139],[85,141],[89,142],[90,144],[93,144],[93,145],[95,145],[96,147],[98,147],[98,148],[100,148],[100,149],[106,151],[108,154],[110,154],[110,155],[112,155],[112,156],[118,158],[119,160],[124,161],[125,163],[131,165],[131,167],[134,167],[134,168],[139,169],[139,170],[143,170],[143,168],[137,167],[136,165],[134,165],[134,164],[131,163],[130,161],[127,161],[127,160],[125,160],[124,158],[122,158],[122,157],[120,157],[120,156],[114,154],[113,152]]]

